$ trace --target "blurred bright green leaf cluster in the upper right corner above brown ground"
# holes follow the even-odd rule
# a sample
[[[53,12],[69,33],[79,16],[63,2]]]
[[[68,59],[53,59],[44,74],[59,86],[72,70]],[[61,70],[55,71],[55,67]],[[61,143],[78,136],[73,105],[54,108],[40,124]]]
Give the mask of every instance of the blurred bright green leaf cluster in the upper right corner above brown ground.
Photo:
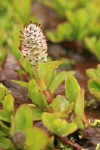
[[[52,42],[78,41],[100,60],[100,1],[99,0],[44,0],[65,19],[47,36]]]

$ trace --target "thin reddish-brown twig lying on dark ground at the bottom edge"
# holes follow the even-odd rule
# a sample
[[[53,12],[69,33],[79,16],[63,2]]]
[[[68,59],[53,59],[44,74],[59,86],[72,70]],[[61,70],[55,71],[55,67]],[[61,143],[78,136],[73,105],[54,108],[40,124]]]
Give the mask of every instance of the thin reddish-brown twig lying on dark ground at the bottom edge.
[[[69,145],[69,146],[75,148],[76,150],[84,150],[84,148],[82,148],[80,145],[78,145],[77,143],[68,141],[65,137],[58,137],[58,139],[59,139],[64,145]]]

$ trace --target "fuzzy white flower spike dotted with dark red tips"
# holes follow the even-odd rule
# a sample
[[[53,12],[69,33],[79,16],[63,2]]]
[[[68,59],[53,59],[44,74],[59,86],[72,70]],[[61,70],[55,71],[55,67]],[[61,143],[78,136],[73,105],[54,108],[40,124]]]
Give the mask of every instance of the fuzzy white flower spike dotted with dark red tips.
[[[38,62],[47,61],[47,43],[40,26],[30,23],[24,26],[24,32],[21,31],[21,33],[19,50],[23,57],[34,66]]]

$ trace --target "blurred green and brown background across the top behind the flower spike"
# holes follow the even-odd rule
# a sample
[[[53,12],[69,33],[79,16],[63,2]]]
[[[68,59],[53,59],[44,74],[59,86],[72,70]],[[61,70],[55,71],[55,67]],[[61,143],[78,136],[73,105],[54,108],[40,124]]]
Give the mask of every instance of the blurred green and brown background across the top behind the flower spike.
[[[48,18],[48,11],[59,18],[56,25],[55,18]],[[8,52],[20,57],[20,30],[30,20],[43,24],[48,41],[81,43],[100,61],[100,0],[1,0],[0,62]]]

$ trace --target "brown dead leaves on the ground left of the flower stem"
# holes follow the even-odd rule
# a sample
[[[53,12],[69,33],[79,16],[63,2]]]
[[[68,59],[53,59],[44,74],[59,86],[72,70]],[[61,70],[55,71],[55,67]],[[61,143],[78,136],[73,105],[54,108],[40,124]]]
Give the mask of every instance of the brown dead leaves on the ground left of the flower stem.
[[[11,80],[21,80],[25,81],[24,76],[20,76],[17,72],[21,69],[18,60],[8,54],[2,65],[2,70],[0,72],[0,82],[3,83],[13,95],[15,99],[15,107],[19,107],[23,103],[30,103],[27,96],[27,89],[15,84]]]

